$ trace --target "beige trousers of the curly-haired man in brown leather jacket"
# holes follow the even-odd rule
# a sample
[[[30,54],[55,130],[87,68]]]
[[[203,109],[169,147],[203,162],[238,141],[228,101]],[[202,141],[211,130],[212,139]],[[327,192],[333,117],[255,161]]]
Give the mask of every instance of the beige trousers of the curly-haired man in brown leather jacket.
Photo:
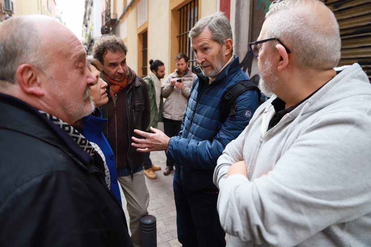
[[[148,204],[150,203],[150,194],[145,184],[144,172],[139,171],[125,177],[118,177],[122,191],[124,192],[127,209],[129,212],[129,226],[131,231],[131,240],[134,246],[141,246],[141,230],[139,219],[148,214]]]

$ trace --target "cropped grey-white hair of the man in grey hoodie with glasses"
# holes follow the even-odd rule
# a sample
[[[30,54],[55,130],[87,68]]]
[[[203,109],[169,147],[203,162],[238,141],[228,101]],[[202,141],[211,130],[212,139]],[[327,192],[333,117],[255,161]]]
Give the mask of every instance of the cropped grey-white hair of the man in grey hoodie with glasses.
[[[318,0],[278,0],[269,6],[266,37],[276,37],[291,50],[301,68],[332,69],[339,63],[341,39],[334,13],[328,10],[328,23],[313,18]]]

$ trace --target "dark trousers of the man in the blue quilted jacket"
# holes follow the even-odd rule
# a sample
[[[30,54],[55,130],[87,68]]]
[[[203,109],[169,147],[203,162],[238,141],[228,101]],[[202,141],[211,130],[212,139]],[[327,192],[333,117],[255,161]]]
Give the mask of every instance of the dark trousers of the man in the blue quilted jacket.
[[[216,209],[216,191],[190,191],[183,187],[179,176],[174,173],[174,199],[177,210],[178,241],[183,247],[224,247],[225,236]]]

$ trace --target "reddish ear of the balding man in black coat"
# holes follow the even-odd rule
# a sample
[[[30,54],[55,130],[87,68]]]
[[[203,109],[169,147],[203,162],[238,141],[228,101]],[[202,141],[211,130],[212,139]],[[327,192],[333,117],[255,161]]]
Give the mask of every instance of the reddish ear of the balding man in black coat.
[[[29,64],[22,64],[17,68],[16,79],[23,92],[36,96],[45,95],[41,87],[40,74],[39,70]]]

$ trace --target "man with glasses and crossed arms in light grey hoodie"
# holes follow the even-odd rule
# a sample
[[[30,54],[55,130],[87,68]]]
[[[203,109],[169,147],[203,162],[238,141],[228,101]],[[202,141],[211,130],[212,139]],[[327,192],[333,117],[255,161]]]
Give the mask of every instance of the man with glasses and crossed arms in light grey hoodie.
[[[371,85],[333,69],[341,39],[321,1],[272,3],[250,43],[273,96],[217,161],[231,246],[369,246]]]

